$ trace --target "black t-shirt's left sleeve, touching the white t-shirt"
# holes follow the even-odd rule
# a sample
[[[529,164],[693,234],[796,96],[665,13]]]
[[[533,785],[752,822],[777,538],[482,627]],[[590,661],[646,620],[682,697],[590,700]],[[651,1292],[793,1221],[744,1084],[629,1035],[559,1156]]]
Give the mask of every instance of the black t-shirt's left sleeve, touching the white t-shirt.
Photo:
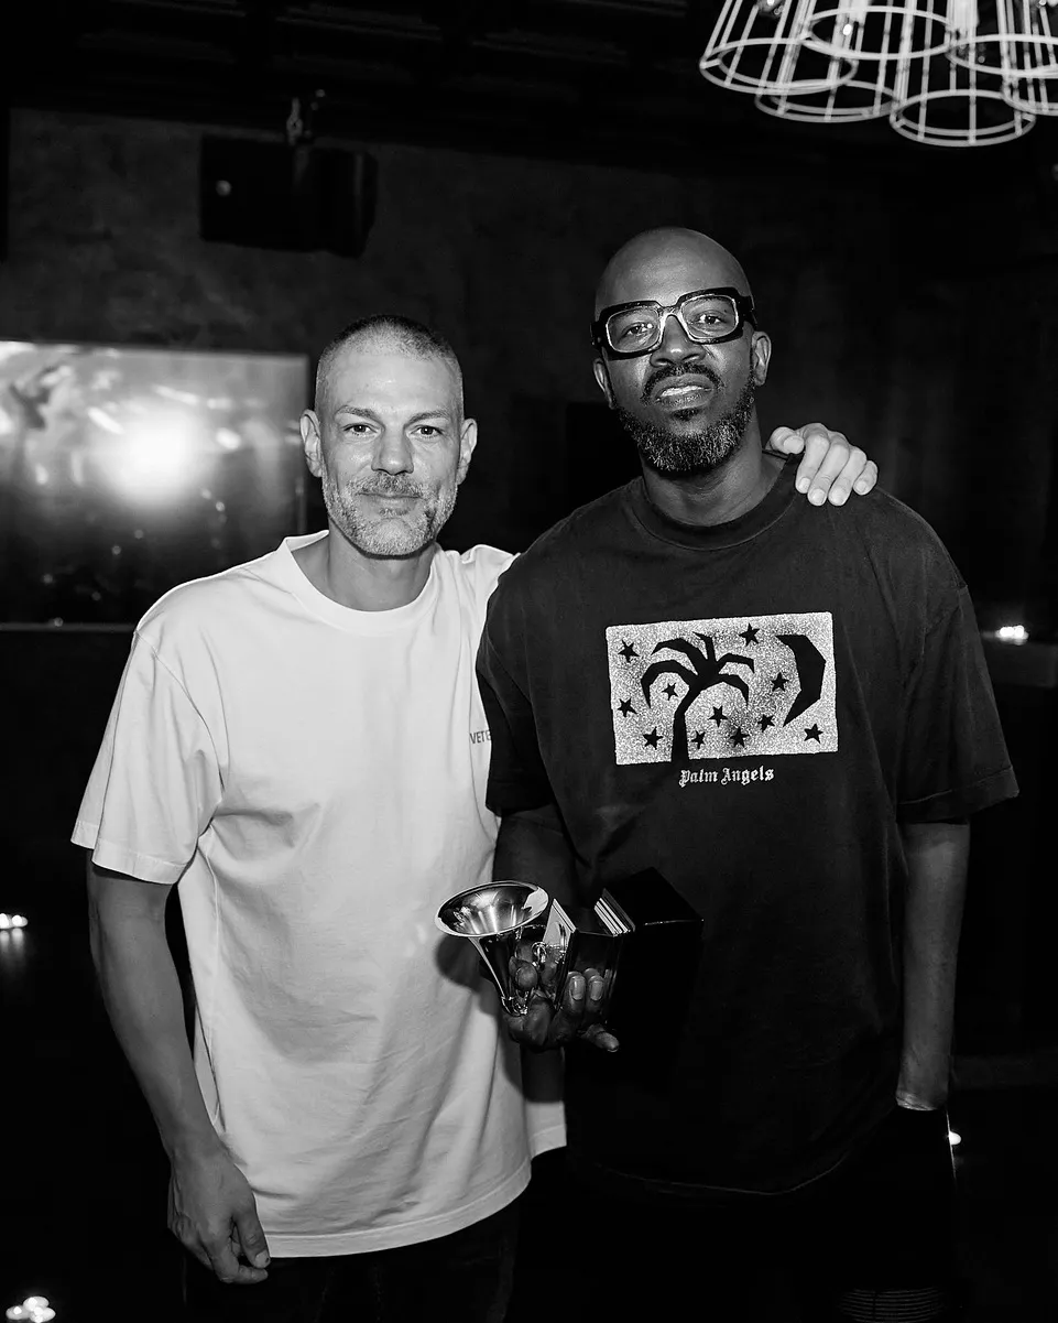
[[[553,799],[528,684],[520,676],[524,665],[517,659],[520,652],[524,656],[524,648],[517,631],[507,623],[505,597],[500,585],[477,648],[477,687],[492,736],[485,803],[501,815],[538,808]]]

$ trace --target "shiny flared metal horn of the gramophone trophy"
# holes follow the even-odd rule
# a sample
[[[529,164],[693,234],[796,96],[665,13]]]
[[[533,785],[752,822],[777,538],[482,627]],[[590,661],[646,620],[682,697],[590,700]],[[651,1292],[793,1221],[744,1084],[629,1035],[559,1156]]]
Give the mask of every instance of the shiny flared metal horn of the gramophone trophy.
[[[492,882],[452,896],[434,923],[450,937],[468,937],[500,990],[508,1015],[525,1015],[529,999],[518,992],[512,974],[525,929],[548,909],[548,893],[529,882]]]

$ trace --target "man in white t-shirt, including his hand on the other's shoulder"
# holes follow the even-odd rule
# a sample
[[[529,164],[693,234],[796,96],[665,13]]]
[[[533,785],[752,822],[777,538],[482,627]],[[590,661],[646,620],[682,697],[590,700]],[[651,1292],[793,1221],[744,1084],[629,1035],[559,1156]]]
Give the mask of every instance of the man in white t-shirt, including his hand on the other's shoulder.
[[[173,589],[136,628],[73,835],[93,954],[172,1164],[169,1226],[202,1265],[190,1318],[341,1302],[395,1323],[428,1302],[499,1323],[516,1199],[563,1143],[561,1105],[526,1105],[472,946],[432,918],[491,877],[473,663],[512,557],[436,545],[476,442],[443,340],[354,323],[315,405],[328,532]],[[831,499],[874,486],[844,438],[811,450]],[[177,882],[193,1056],[164,931]]]

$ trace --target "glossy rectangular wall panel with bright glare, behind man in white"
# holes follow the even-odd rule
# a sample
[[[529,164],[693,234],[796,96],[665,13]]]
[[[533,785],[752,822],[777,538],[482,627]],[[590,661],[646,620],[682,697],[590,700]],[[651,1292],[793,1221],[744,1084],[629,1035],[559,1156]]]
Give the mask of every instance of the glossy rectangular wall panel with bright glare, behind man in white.
[[[135,623],[304,525],[308,360],[0,341],[0,623]]]

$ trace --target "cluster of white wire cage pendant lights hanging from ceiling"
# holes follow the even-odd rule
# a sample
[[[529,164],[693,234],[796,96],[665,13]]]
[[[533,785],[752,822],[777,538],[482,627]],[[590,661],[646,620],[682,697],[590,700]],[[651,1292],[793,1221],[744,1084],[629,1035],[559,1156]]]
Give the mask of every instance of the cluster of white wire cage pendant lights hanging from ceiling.
[[[725,0],[700,69],[783,119],[1004,143],[1058,114],[1058,0]]]

